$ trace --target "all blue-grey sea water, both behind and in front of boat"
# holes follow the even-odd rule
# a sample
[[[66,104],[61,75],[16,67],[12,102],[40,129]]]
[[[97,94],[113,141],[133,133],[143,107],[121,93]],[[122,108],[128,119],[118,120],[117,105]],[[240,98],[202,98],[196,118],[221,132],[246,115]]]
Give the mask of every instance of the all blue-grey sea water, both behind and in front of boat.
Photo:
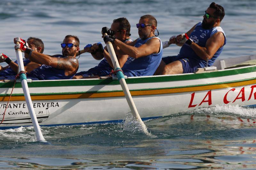
[[[80,48],[103,42],[101,28],[126,17],[132,39],[135,24],[151,14],[162,41],[188,31],[203,19],[208,0],[1,0],[0,53],[15,60],[13,38],[41,38],[45,54],[60,54],[67,34]],[[221,23],[227,44],[220,58],[256,54],[255,0],[218,0],[226,15]],[[164,49],[176,55],[180,47]],[[97,65],[89,54],[79,58],[79,71]],[[3,65],[6,65],[3,63]],[[194,115],[194,116],[192,116]],[[31,127],[0,130],[0,168],[256,168],[255,108],[218,106],[145,122],[152,136],[122,131],[123,124],[42,127],[51,144],[33,141]],[[240,117],[241,119],[237,118]],[[242,120],[242,121],[241,121]]]

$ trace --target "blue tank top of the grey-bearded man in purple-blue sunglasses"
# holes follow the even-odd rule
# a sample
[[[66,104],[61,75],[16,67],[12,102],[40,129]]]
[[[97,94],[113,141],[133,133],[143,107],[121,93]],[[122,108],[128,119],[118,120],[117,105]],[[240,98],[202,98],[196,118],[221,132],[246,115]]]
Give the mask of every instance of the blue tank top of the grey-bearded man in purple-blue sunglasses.
[[[150,54],[140,58],[132,58],[128,57],[126,63],[124,64],[122,70],[124,71],[124,75],[128,77],[134,76],[152,76],[158,65],[161,62],[163,55],[163,45],[158,37],[150,37],[146,40],[138,39],[134,47],[140,47],[142,44],[145,44],[151,38],[157,38],[160,41],[160,51],[156,54]]]

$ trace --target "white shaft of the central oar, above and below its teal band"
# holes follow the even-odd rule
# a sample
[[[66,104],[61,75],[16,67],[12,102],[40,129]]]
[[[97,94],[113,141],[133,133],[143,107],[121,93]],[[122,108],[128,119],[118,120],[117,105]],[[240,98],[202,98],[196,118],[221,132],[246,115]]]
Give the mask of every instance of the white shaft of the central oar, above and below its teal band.
[[[106,35],[107,34],[105,34],[105,36]],[[115,70],[116,70],[116,68],[120,68],[118,60],[116,58],[115,50],[114,50],[113,45],[111,44],[111,42],[107,42],[107,48],[108,48],[108,53],[111,56],[111,61],[112,61],[113,65],[115,66]],[[136,118],[142,124],[143,121],[141,120],[140,115],[138,113],[138,110],[137,110],[137,108],[136,108],[136,106],[135,106],[135,104],[134,104],[134,102],[132,100],[132,95],[131,95],[131,93],[130,93],[130,91],[128,89],[128,86],[127,86],[127,84],[125,82],[125,79],[124,78],[120,78],[119,79],[119,83],[120,83],[120,85],[121,85],[121,87],[122,87],[122,89],[124,91],[125,98],[127,100],[127,103],[129,105],[131,111],[132,111],[133,117]]]

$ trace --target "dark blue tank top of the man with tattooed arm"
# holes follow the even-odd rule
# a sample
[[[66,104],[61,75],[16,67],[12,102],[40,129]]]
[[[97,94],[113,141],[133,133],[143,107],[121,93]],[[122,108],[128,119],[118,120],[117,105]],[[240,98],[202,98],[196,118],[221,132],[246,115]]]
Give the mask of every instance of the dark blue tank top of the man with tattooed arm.
[[[64,58],[63,55],[56,55],[54,57]],[[65,70],[57,69],[49,65],[42,64],[40,67],[34,69],[27,74],[28,77],[36,77],[39,80],[59,80],[59,79],[72,79],[75,73],[71,76],[65,76]]]

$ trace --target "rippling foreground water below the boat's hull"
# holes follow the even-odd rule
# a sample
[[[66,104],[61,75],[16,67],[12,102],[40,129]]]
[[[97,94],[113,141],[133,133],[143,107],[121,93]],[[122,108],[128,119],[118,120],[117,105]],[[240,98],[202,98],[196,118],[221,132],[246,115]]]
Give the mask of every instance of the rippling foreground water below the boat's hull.
[[[146,121],[154,137],[122,123],[42,127],[51,144],[28,142],[32,127],[0,130],[0,167],[256,168],[255,108],[228,108]]]

